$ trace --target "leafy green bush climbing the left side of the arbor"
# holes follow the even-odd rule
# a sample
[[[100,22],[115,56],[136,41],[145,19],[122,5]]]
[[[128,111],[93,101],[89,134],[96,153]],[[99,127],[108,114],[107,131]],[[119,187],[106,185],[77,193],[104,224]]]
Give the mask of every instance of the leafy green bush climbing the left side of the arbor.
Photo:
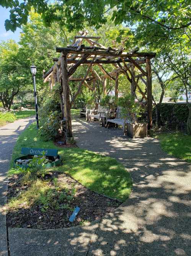
[[[54,139],[61,127],[62,113],[60,110],[59,95],[56,92],[45,94],[39,109],[39,135],[47,140]]]

